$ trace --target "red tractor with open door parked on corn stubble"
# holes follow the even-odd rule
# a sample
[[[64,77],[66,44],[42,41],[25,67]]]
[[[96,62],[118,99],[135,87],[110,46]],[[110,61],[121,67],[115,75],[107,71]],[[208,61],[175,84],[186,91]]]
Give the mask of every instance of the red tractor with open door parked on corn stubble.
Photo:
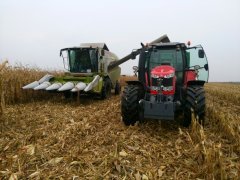
[[[143,119],[174,120],[182,114],[182,125],[189,126],[192,112],[204,122],[208,62],[201,45],[189,45],[163,36],[132,53],[140,54],[138,67],[134,67],[138,80],[128,81],[122,93],[125,125]]]

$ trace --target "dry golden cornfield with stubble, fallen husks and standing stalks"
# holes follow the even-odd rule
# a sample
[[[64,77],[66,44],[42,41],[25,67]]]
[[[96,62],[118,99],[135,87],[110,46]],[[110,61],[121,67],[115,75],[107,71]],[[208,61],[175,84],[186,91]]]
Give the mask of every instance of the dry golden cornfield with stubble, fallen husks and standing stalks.
[[[240,85],[206,86],[204,128],[197,120],[190,128],[154,120],[125,127],[119,96],[104,101],[80,97],[77,102],[21,90],[43,74],[24,67],[1,69],[2,179],[240,176]],[[122,85],[130,79],[124,76]]]

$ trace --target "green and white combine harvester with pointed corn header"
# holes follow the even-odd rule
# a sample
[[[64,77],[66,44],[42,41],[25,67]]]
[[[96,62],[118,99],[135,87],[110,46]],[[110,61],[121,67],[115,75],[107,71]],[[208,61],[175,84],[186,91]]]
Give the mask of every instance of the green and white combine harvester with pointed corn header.
[[[115,89],[115,94],[120,93],[121,69],[118,66],[108,68],[118,58],[106,44],[84,43],[80,47],[64,48],[60,50],[60,56],[67,70],[64,76],[47,74],[23,89],[63,92],[66,98],[75,92],[97,94],[102,99],[110,95],[111,89]]]

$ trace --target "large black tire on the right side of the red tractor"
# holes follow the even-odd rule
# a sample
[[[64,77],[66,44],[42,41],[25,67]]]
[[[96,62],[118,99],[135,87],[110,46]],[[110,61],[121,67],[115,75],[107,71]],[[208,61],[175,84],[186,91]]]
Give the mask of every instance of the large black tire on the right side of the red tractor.
[[[202,86],[190,86],[186,91],[183,126],[188,127],[192,122],[192,111],[199,123],[204,125],[205,91]]]

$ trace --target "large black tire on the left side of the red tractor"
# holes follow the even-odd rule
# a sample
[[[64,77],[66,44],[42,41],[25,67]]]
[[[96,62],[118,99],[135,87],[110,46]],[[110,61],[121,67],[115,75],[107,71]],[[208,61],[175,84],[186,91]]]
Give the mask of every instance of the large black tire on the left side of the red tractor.
[[[141,96],[141,88],[137,85],[127,85],[124,88],[121,98],[121,113],[126,126],[134,125],[139,120]]]

